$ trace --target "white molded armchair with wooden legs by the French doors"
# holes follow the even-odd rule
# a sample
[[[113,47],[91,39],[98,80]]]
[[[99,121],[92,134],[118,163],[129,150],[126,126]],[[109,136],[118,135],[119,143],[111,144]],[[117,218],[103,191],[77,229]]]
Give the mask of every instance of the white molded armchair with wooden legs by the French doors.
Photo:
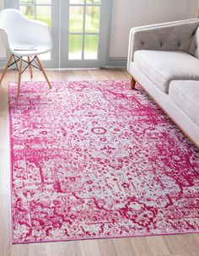
[[[39,54],[50,52],[52,49],[51,33],[48,25],[40,21],[27,19],[18,10],[8,8],[0,13],[0,35],[3,38],[4,46],[11,52],[8,63],[3,69],[0,84],[7,69],[16,64],[19,71],[18,95],[20,92],[21,74],[26,68],[30,68],[31,78],[32,67],[39,68],[51,89],[49,79],[38,57]],[[12,60],[13,63],[11,63]],[[22,63],[26,64],[24,70],[22,70]]]

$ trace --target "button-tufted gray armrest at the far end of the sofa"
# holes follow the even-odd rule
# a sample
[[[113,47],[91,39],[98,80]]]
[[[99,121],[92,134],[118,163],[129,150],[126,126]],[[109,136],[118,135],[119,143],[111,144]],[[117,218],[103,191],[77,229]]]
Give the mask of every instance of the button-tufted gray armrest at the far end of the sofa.
[[[130,30],[127,70],[137,50],[189,52],[199,19],[186,19]]]

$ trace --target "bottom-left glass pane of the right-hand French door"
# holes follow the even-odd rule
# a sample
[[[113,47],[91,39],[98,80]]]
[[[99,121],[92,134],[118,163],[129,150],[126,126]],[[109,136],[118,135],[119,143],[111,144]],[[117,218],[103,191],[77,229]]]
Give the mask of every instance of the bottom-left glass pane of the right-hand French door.
[[[69,35],[69,56],[70,60],[82,59],[83,35]]]

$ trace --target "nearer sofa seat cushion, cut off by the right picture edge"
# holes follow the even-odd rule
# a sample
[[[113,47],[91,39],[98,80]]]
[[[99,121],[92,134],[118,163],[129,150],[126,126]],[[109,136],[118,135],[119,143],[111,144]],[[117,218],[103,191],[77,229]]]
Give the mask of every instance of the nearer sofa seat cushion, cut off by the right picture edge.
[[[199,81],[172,81],[169,97],[199,125]]]

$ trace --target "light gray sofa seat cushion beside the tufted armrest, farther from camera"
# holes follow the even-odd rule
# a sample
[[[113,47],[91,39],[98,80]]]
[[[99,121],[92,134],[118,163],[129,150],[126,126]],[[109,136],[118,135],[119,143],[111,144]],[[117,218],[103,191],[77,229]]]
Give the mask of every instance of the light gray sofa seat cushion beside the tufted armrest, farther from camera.
[[[187,52],[140,50],[134,63],[166,93],[172,80],[199,80],[199,60]]]

